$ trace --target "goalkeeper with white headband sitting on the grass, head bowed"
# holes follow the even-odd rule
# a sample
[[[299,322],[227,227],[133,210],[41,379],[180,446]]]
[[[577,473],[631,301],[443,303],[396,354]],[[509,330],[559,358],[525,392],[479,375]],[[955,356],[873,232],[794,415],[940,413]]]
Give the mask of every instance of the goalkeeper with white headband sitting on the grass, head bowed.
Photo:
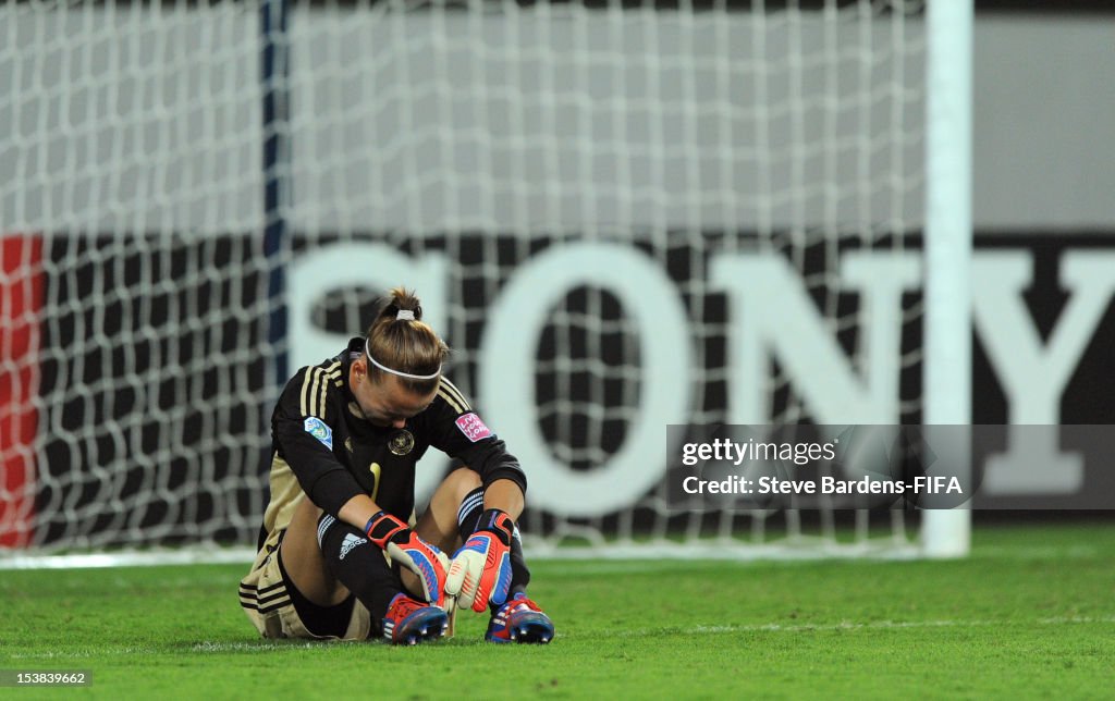
[[[518,461],[442,376],[448,348],[418,299],[396,289],[380,309],[366,338],[299,370],[279,399],[241,605],[265,637],[415,644],[445,633],[455,602],[491,610],[491,642],[550,642],[553,623],[526,597]],[[467,467],[415,523],[415,464],[432,446]]]

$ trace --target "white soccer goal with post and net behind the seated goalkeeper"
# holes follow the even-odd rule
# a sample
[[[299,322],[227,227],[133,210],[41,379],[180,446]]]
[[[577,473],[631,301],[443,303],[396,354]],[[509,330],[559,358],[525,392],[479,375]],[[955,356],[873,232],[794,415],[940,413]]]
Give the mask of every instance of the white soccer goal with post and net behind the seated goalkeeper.
[[[971,35],[971,0],[0,0],[0,567],[242,558],[282,380],[400,283],[536,554],[963,555],[963,509],[677,513],[663,448],[970,422]]]

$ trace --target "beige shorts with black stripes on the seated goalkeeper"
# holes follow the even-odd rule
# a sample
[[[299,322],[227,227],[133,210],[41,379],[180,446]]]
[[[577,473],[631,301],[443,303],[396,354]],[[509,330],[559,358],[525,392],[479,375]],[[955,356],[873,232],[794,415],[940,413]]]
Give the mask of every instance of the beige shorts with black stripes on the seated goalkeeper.
[[[283,530],[277,530],[255,555],[240,581],[240,605],[263,637],[367,640],[371,614],[355,596],[336,606],[319,606],[290,583],[279,558]]]

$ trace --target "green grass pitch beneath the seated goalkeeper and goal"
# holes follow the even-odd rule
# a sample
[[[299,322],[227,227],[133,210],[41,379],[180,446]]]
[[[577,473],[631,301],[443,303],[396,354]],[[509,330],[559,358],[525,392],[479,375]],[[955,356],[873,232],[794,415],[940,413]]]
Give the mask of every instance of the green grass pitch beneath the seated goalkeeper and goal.
[[[244,566],[0,572],[4,698],[1111,698],[1115,528],[978,528],[952,562],[539,562],[549,646],[265,641]]]

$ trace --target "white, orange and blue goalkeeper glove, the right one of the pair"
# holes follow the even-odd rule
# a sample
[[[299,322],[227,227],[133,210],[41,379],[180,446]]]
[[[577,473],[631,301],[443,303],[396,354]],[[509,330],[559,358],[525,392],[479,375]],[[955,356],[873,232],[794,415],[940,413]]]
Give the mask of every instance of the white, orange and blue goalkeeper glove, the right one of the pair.
[[[478,528],[456,553],[449,565],[445,593],[458,604],[479,613],[489,603],[507,600],[511,587],[511,537],[515,522],[505,512],[489,508],[481,514]]]

